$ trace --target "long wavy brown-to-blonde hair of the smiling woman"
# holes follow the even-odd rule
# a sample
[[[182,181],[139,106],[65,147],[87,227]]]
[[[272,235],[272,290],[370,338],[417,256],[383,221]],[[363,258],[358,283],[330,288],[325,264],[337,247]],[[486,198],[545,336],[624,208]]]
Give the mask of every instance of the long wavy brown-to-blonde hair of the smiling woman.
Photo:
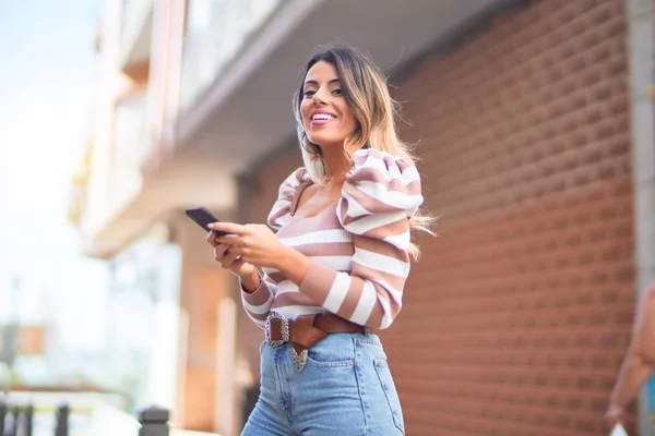
[[[344,143],[346,156],[352,158],[355,152],[369,147],[416,161],[417,159],[409,145],[398,138],[396,131],[398,104],[391,98],[386,78],[378,66],[353,47],[344,45],[324,46],[319,47],[307,61],[302,81],[305,81],[309,70],[320,61],[329,62],[336,69],[344,97],[357,121],[357,129]],[[305,132],[300,112],[302,98],[303,83],[300,83],[294,95],[294,113],[302,160],[314,182],[326,183],[327,175],[321,147],[311,143]],[[433,235],[430,230],[433,221],[432,216],[419,209],[409,219],[409,228]],[[419,247],[412,243],[409,254],[414,259],[417,259],[420,255]]]

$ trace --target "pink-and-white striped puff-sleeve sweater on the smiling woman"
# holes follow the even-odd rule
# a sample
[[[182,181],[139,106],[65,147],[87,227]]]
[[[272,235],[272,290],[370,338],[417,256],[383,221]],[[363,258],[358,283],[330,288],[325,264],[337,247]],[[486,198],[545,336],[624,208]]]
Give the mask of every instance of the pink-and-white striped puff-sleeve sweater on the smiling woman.
[[[386,328],[402,306],[409,274],[409,220],[422,203],[414,162],[373,149],[353,156],[342,197],[312,217],[295,218],[298,197],[311,184],[305,168],[281,185],[269,226],[312,263],[298,287],[264,268],[252,293],[242,291],[250,318],[264,327],[271,311],[294,318],[332,312],[356,324]]]

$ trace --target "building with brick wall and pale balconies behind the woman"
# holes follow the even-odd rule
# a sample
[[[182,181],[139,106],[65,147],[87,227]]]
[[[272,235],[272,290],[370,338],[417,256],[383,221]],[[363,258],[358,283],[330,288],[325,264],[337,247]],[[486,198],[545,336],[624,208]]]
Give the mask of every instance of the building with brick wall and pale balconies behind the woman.
[[[346,40],[389,73],[440,216],[381,332],[407,433],[602,431],[655,279],[650,1],[142,3],[130,21],[107,2],[103,80],[118,85],[100,99],[81,231],[92,256],[119,256],[154,226],[178,247],[179,425],[238,434],[262,340],[182,210],[265,220],[301,165],[298,71],[317,45]],[[140,36],[119,37],[128,23]]]

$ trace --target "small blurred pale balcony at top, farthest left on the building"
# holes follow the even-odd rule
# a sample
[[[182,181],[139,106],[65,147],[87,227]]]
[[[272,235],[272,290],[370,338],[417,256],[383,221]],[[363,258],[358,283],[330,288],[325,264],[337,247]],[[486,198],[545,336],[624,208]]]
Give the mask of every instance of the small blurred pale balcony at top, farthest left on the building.
[[[153,0],[123,0],[119,68],[130,76],[143,75],[150,61],[153,14]]]

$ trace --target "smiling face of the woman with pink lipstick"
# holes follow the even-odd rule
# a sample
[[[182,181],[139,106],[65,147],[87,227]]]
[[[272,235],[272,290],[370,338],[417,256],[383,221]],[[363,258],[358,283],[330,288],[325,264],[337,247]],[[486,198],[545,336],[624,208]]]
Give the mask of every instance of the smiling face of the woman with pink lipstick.
[[[332,63],[319,61],[307,72],[300,113],[307,137],[321,147],[343,146],[357,129]]]

